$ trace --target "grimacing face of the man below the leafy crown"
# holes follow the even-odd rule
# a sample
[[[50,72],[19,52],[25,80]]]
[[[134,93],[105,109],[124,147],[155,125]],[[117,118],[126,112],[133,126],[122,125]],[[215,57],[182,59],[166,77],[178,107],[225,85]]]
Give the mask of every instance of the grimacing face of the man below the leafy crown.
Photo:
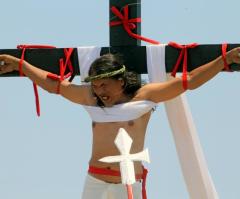
[[[100,98],[105,106],[112,106],[124,97],[123,80],[111,78],[98,79],[92,81],[93,92]]]

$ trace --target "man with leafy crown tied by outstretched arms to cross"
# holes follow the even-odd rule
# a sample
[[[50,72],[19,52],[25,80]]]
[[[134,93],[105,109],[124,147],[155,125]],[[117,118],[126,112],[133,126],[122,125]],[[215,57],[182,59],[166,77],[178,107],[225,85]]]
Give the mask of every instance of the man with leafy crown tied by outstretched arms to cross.
[[[0,55],[0,74],[19,71],[20,59]],[[212,79],[226,68],[226,64],[240,64],[240,48],[227,52],[226,56],[204,64],[188,73],[188,89],[193,90]],[[184,93],[182,79],[177,77],[165,83],[142,85],[134,72],[127,71],[118,55],[105,54],[96,59],[85,78],[90,85],[75,85],[48,78],[48,72],[23,61],[20,72],[48,91],[83,105],[92,118],[93,145],[89,161],[83,199],[122,199],[125,187],[120,184],[119,165],[100,162],[106,156],[118,155],[114,139],[124,128],[133,139],[131,153],[142,151],[146,128],[153,108],[160,102]],[[145,170],[141,162],[134,163],[137,183],[133,185],[135,199],[142,198],[141,180]]]

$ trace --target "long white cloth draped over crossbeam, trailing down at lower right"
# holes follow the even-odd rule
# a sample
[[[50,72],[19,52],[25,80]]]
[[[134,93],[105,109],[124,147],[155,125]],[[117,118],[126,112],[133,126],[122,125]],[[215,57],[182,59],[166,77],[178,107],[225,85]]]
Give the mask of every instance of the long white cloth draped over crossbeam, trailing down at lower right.
[[[99,47],[79,47],[81,80],[88,76],[91,63],[100,57]],[[165,66],[165,45],[147,46],[148,74],[151,82],[169,77]],[[191,199],[218,199],[201,144],[184,94],[165,102],[184,180]]]

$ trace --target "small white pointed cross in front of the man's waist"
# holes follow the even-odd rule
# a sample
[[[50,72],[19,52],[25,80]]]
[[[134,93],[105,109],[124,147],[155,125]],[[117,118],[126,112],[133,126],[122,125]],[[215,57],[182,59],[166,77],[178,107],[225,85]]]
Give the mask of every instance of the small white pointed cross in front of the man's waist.
[[[134,184],[136,182],[136,178],[133,161],[146,161],[150,163],[148,149],[136,154],[130,154],[132,138],[123,128],[119,129],[114,143],[121,155],[104,157],[99,161],[106,163],[120,162],[122,184]]]

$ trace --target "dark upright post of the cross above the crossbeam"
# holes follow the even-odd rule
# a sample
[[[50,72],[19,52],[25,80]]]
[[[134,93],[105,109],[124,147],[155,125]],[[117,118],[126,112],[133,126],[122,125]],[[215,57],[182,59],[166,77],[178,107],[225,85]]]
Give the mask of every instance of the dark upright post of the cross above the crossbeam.
[[[115,6],[123,13],[124,6],[129,6],[129,19],[141,18],[141,0],[110,0],[110,22],[118,21],[119,18],[111,11]],[[141,23],[136,23],[136,28],[132,30],[135,34],[141,35]],[[110,46],[141,46],[141,41],[129,37],[123,25],[110,27]]]

